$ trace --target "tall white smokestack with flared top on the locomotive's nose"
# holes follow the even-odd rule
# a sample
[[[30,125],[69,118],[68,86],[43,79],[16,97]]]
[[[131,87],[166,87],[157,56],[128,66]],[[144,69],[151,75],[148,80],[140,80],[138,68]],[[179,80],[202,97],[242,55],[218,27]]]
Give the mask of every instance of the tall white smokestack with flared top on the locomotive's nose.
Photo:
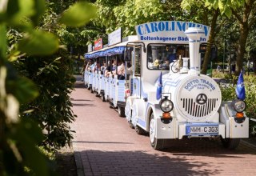
[[[190,27],[185,31],[190,43],[190,70],[189,74],[200,74],[199,45],[204,31],[197,27]]]

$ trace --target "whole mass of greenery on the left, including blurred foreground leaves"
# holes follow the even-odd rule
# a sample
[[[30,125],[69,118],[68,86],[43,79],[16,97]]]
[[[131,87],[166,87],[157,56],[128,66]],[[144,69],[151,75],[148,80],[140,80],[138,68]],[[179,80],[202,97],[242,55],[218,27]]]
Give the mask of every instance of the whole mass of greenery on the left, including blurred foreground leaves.
[[[1,175],[53,174],[37,145],[58,148],[72,138],[67,123],[74,121],[69,100],[74,78],[60,34],[74,26],[68,20],[74,14],[52,13],[50,5],[44,0],[0,2]],[[94,14],[94,6],[85,2],[71,6],[78,25],[88,22],[84,15],[92,17],[83,6],[91,6],[87,13]],[[59,23],[59,18],[65,20]]]

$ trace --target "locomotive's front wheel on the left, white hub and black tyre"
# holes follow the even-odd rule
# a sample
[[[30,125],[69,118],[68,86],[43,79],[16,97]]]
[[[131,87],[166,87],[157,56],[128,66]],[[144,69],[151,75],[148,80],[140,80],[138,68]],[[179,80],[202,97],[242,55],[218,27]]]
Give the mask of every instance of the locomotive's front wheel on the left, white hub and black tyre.
[[[165,148],[166,139],[155,138],[156,135],[156,123],[154,120],[154,114],[150,116],[150,143],[155,150],[163,150]]]

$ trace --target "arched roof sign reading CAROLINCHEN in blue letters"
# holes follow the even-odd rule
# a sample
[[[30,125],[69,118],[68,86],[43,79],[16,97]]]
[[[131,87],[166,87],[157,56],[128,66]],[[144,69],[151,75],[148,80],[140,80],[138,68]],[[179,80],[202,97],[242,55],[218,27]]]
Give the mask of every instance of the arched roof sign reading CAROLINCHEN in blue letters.
[[[172,42],[188,43],[189,38],[184,33],[189,27],[198,27],[204,31],[200,38],[201,42],[207,42],[210,34],[210,26],[205,26],[194,22],[148,22],[135,26],[138,40],[147,42]]]

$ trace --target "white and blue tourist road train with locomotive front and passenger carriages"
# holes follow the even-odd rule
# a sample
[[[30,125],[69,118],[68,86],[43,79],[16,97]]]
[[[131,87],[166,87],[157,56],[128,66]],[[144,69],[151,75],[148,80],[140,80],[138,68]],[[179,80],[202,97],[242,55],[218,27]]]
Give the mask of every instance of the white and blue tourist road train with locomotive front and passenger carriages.
[[[200,74],[199,51],[209,26],[172,21],[135,29],[138,36],[122,39],[118,29],[109,35],[107,47],[85,54],[98,67],[124,61],[122,80],[118,74],[106,77],[102,70],[85,70],[92,93],[118,109],[138,134],[148,132],[155,150],[182,138],[220,138],[223,146],[234,149],[241,138],[249,138],[246,103],[238,98],[222,102],[218,83]]]

